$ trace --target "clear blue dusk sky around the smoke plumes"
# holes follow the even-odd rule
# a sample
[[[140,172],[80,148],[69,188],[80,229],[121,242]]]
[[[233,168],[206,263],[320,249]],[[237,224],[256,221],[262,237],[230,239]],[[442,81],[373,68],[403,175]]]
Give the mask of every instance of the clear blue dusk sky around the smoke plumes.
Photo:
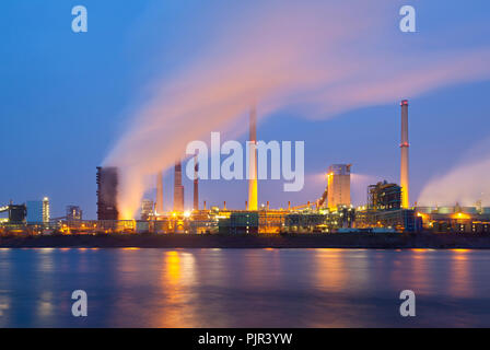
[[[245,7],[235,2],[233,11]],[[250,5],[255,1],[245,2]],[[490,48],[489,1],[392,2],[393,35],[417,46],[418,55],[423,55],[424,45],[428,50],[438,46],[458,51]],[[52,217],[62,215],[67,205],[80,205],[86,219],[95,218],[95,167],[126,130],[131,110],[151,94],[154,78],[185,70],[188,61],[206,49],[217,31],[212,25],[215,18],[226,16],[231,8],[224,3],[2,1],[0,205],[48,196]],[[88,9],[88,33],[71,31],[71,9],[77,4]],[[417,33],[398,31],[401,4],[416,7]],[[260,201],[280,207],[288,200],[303,203],[316,199],[325,187],[318,176],[331,163],[353,164],[359,180],[352,185],[354,203],[365,200],[368,184],[398,182],[401,98],[410,101],[413,201],[431,179],[488,138],[488,96],[490,81],[471,79],[390,103],[348,108],[329,118],[307,118],[298,108],[278,109],[260,120],[258,138],[304,140],[306,184],[295,194],[281,192],[282,180],[261,186]],[[190,205],[190,182],[184,184],[186,203]],[[164,184],[167,206],[171,186],[168,172]],[[200,196],[208,203],[226,200],[230,207],[242,208],[246,184],[202,183]]]

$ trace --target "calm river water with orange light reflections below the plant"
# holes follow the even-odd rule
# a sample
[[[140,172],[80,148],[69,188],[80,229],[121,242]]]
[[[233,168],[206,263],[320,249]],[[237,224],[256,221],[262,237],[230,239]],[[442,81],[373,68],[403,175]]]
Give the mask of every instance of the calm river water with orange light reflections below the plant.
[[[0,249],[0,327],[83,326],[489,327],[490,252]]]

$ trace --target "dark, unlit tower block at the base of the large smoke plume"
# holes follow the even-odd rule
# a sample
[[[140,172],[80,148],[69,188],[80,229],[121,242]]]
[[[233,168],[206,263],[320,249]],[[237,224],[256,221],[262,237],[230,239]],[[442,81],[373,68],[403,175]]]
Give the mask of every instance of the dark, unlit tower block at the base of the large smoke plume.
[[[97,219],[117,220],[118,170],[114,166],[97,166]]]

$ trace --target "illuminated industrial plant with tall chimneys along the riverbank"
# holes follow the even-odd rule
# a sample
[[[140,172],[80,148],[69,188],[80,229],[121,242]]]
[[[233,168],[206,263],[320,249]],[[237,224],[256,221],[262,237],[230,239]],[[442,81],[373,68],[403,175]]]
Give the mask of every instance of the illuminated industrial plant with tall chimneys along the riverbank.
[[[156,196],[141,202],[138,220],[121,220],[118,210],[119,171],[117,167],[96,167],[97,220],[83,220],[78,206],[68,206],[62,218],[50,218],[49,200],[12,202],[0,208],[7,213],[1,219],[3,234],[282,234],[336,232],[410,232],[487,233],[490,232],[490,208],[418,207],[410,203],[408,101],[400,103],[400,178],[399,184],[386,180],[366,188],[366,202],[354,208],[351,203],[352,164],[331,164],[326,167],[326,187],[317,199],[301,206],[284,203],[273,209],[269,202],[258,206],[257,179],[257,112],[249,113],[250,152],[248,159],[248,197],[243,209],[200,206],[199,164],[195,160],[194,200],[191,210],[185,210],[182,160],[174,166],[173,210],[164,210],[163,172],[155,178]],[[245,198],[244,198],[245,199]],[[190,206],[189,206],[190,207]]]

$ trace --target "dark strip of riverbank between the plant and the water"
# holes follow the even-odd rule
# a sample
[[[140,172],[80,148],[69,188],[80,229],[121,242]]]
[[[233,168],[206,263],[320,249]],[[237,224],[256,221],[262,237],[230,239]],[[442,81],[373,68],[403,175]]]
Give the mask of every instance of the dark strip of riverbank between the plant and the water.
[[[0,248],[490,249],[490,235],[456,233],[83,234],[0,236]]]

